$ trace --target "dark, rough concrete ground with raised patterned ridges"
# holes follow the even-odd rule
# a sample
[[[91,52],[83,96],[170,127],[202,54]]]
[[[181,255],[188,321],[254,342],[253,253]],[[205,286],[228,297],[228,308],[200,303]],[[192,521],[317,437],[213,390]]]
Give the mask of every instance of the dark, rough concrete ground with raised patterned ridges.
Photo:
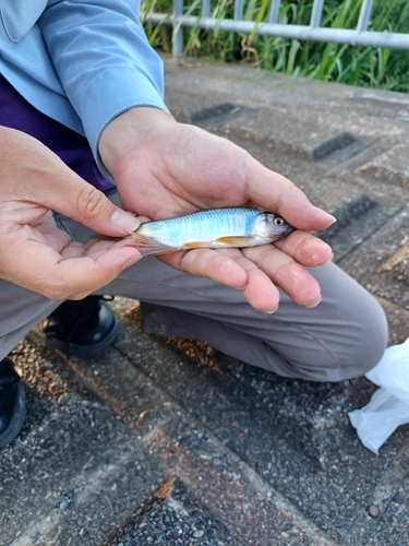
[[[409,335],[409,97],[166,58],[179,120],[244,146],[337,224],[335,261]],[[118,343],[68,359],[34,331],[0,452],[0,544],[408,545],[409,427],[375,455],[348,412],[375,390],[288,380],[205,344],[147,335],[116,299]],[[362,320],[365,320],[362,317]]]

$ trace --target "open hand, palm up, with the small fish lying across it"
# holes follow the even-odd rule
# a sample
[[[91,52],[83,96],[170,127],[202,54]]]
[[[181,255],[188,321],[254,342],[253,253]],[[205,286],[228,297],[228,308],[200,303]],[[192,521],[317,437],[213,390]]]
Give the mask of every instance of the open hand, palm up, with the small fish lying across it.
[[[134,108],[107,126],[99,153],[116,179],[123,206],[139,215],[158,219],[200,209],[260,206],[298,228],[274,245],[179,251],[160,260],[241,289],[253,307],[266,312],[278,307],[277,286],[300,305],[320,302],[320,286],[305,266],[326,263],[332,250],[308,232],[325,229],[334,217],[244,150],[178,123],[161,110]]]

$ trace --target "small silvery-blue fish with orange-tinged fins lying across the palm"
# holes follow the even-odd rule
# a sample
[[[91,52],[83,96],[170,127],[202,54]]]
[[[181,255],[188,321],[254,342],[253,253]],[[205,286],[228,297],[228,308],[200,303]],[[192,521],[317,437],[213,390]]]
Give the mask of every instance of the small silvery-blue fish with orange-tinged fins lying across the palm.
[[[260,209],[208,209],[141,224],[128,237],[142,256],[192,248],[243,248],[266,245],[296,228],[281,216]]]

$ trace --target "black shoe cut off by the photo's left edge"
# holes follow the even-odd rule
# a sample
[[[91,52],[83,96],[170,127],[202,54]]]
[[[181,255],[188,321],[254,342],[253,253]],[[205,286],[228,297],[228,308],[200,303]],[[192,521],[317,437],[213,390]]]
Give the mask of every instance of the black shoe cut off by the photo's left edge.
[[[10,358],[0,361],[0,449],[21,431],[25,417],[24,385]]]

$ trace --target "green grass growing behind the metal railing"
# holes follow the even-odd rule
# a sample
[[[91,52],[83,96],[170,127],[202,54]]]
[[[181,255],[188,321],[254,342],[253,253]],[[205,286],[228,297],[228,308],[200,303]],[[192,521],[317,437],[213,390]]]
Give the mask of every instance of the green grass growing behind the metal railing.
[[[309,25],[312,0],[281,0],[279,23]],[[321,26],[354,28],[362,0],[325,0]],[[170,0],[144,0],[142,20],[149,11],[171,13]],[[246,0],[244,20],[267,21],[269,0]],[[213,0],[210,15],[233,19],[233,0]],[[184,13],[200,15],[201,1],[185,1]],[[149,43],[171,50],[172,29],[145,23]],[[408,0],[375,0],[369,29],[409,33]],[[184,28],[184,52],[225,62],[240,62],[269,71],[364,87],[409,93],[409,51],[300,41],[269,36]]]

